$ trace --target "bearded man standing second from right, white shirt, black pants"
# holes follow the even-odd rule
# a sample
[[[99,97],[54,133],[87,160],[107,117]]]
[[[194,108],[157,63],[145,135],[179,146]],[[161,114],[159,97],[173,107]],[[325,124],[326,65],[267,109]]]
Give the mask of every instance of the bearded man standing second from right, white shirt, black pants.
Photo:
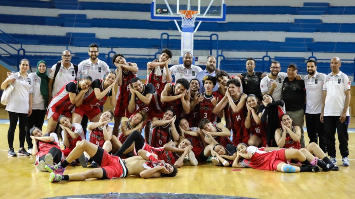
[[[317,62],[307,61],[308,75],[304,77],[307,103],[306,103],[306,126],[309,143],[314,142],[325,153],[327,153],[327,140],[324,132],[324,123],[319,120],[321,112],[321,100],[323,98],[323,84],[326,81],[326,74],[317,72]]]

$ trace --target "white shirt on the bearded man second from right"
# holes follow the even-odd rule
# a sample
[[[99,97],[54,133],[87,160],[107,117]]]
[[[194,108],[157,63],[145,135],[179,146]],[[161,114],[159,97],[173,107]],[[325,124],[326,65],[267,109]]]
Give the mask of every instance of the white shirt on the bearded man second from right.
[[[306,113],[321,113],[323,84],[326,80],[326,77],[326,74],[315,72],[313,77],[309,77],[309,75],[306,75],[303,78],[307,93]]]

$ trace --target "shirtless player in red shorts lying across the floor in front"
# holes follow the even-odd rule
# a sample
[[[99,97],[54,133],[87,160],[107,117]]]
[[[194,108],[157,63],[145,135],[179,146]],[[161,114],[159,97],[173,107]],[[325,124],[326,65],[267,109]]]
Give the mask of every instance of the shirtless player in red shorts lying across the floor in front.
[[[87,152],[91,158],[100,165],[101,168],[87,170],[83,173],[62,175],[69,162]],[[122,160],[120,157],[108,154],[103,148],[92,144],[86,140],[78,142],[74,150],[61,163],[51,166],[46,165],[50,182],[59,181],[82,181],[89,178],[113,179],[125,178],[127,176],[140,176],[142,178],[174,177],[177,168],[156,159],[152,153],[139,150],[140,156],[134,156]],[[148,160],[148,161],[147,161]]]

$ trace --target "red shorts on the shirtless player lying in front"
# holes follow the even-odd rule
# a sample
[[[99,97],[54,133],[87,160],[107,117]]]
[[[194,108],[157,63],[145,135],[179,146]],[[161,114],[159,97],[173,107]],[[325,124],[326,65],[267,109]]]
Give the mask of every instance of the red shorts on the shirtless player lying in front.
[[[106,177],[112,178],[125,178],[128,174],[128,170],[124,165],[121,158],[113,156],[104,152],[100,167],[106,171]]]

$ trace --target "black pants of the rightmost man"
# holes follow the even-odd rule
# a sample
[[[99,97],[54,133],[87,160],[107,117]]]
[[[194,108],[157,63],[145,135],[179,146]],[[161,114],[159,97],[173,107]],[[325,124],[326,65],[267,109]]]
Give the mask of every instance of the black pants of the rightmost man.
[[[347,126],[349,125],[349,117],[347,116],[343,123],[339,121],[340,116],[325,116],[324,117],[324,129],[327,138],[327,148],[329,156],[336,156],[335,149],[335,130],[338,132],[339,150],[343,157],[349,155],[349,149],[347,142],[349,135],[347,132]]]

